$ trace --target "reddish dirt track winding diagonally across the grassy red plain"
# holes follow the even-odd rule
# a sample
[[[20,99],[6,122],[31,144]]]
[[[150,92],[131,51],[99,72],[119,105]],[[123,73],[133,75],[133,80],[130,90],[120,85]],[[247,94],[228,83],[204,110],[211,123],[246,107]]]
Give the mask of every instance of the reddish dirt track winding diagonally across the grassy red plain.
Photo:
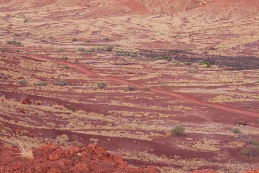
[[[47,58],[47,57],[44,57],[44,56],[39,56],[39,55],[33,55],[33,57],[38,57],[38,58],[41,58],[41,59],[50,60],[50,58]],[[141,86],[141,85],[139,85],[137,83],[134,83],[134,82],[131,82],[131,81],[127,81],[127,80],[123,80],[123,79],[118,79],[118,78],[113,77],[113,76],[99,76],[99,75],[91,72],[90,70],[87,70],[86,68],[84,68],[80,64],[74,64],[74,63],[71,63],[71,62],[59,61],[59,60],[54,60],[54,61],[57,62],[57,63],[61,63],[61,64],[72,66],[76,70],[78,70],[81,73],[86,74],[86,75],[90,75],[90,76],[94,76],[94,77],[100,77],[100,78],[105,78],[105,79],[108,79],[108,80],[111,80],[111,81],[115,81],[115,82],[120,82],[123,85],[135,85],[136,87],[138,87],[140,89],[143,88],[143,86]],[[180,99],[182,101],[186,101],[186,102],[190,102],[190,103],[196,103],[196,104],[200,104],[200,105],[203,105],[203,106],[206,106],[206,107],[209,107],[209,106],[213,105],[213,106],[215,106],[217,108],[220,108],[221,110],[224,110],[224,111],[227,111],[227,112],[232,112],[232,113],[237,113],[237,114],[241,114],[241,115],[245,115],[245,116],[259,118],[259,114],[258,113],[254,113],[254,112],[251,112],[251,111],[240,110],[240,109],[228,107],[228,106],[225,106],[225,105],[222,105],[222,104],[219,104],[219,103],[206,103],[206,102],[204,102],[202,100],[199,100],[197,98],[188,96],[186,94],[182,95],[181,93],[164,91],[164,90],[161,90],[161,89],[156,88],[156,87],[153,87],[152,91],[157,92],[157,93],[168,94],[168,95],[176,97],[176,98],[178,98],[178,99]]]

